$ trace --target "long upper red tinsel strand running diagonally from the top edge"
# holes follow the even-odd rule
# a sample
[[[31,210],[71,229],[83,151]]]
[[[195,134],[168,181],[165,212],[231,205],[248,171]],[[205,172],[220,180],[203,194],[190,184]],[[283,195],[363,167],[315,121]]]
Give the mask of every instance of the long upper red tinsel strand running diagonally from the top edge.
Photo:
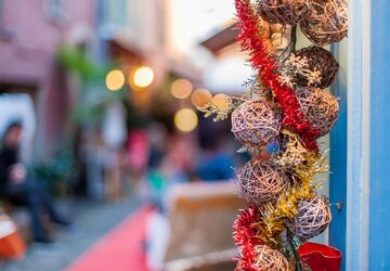
[[[259,72],[263,87],[273,91],[276,103],[282,106],[284,112],[282,128],[288,127],[292,132],[298,133],[304,146],[317,153],[318,145],[315,140],[320,132],[304,120],[294,89],[282,86],[278,81],[280,74],[275,59],[270,54],[264,38],[259,34],[259,16],[253,13],[249,0],[235,0],[235,8],[242,29],[237,41],[240,43],[242,50],[249,52],[249,62]]]

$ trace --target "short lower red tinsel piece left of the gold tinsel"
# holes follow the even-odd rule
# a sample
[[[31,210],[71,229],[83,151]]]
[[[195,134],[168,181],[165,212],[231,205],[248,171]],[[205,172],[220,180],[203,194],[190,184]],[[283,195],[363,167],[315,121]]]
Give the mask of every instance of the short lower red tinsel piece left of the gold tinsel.
[[[258,227],[260,211],[256,207],[249,207],[246,210],[240,210],[237,219],[234,222],[234,241],[239,247],[240,256],[238,257],[239,269],[236,271],[257,271],[253,266],[256,259],[255,247],[260,245],[258,238],[253,237],[258,234]]]

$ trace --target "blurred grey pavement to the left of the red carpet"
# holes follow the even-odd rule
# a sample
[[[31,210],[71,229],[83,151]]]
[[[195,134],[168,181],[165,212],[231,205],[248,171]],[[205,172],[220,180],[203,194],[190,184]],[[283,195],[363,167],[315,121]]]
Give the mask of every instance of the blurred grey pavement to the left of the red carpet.
[[[8,262],[2,271],[60,271],[82,255],[92,244],[133,214],[142,201],[128,195],[116,203],[96,203],[73,199],[61,203],[75,221],[70,229],[55,229],[55,243],[42,245],[31,243],[21,261]]]

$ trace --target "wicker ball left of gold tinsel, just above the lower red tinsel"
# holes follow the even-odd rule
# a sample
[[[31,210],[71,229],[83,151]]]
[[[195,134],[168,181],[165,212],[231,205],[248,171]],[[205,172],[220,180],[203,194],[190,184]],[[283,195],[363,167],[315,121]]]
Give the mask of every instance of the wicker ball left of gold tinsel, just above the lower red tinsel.
[[[248,162],[237,171],[239,194],[252,205],[274,202],[286,186],[287,177],[271,162]]]

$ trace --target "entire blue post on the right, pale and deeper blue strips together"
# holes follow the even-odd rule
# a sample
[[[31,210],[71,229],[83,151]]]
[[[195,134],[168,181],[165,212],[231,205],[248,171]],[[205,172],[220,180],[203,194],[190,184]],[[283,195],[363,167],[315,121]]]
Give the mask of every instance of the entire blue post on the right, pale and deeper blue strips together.
[[[390,2],[349,4],[347,270],[390,270]]]

